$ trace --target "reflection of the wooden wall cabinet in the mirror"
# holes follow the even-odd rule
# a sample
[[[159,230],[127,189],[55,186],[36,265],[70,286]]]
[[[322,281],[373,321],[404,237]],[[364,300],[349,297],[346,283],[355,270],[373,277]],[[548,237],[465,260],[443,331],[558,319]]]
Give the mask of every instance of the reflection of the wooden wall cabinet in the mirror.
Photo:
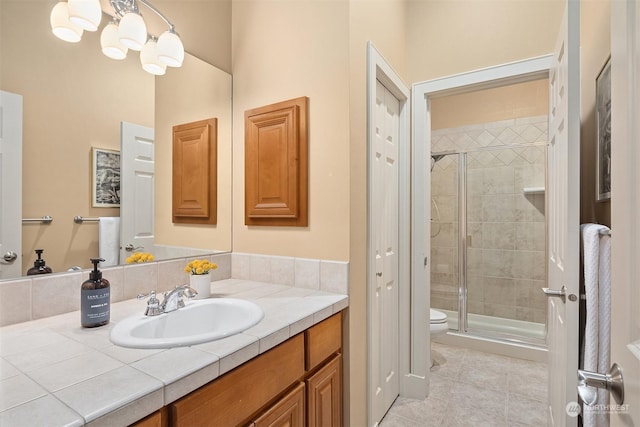
[[[173,127],[173,222],[217,222],[217,135],[215,118]]]

